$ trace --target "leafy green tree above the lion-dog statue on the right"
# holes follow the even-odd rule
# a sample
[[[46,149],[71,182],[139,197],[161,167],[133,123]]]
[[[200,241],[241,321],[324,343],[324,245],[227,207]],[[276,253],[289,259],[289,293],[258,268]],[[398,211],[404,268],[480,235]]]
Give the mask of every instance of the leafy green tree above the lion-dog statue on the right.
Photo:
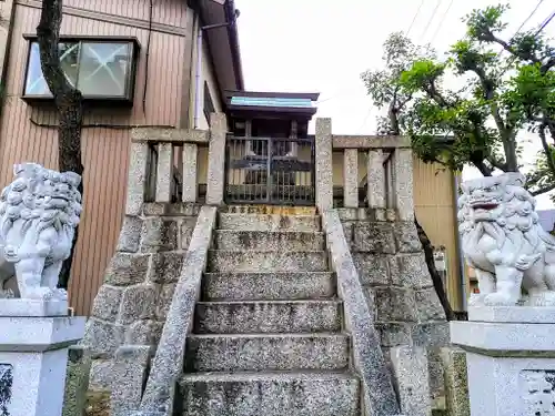
[[[517,172],[523,162],[517,134],[534,132],[543,151],[528,186],[541,194],[555,189],[555,49],[538,30],[501,39],[506,10],[474,10],[464,18],[465,37],[446,60],[418,59],[393,82],[413,97],[404,126],[425,162],[456,171],[470,163],[484,175]],[[507,53],[496,52],[500,47]],[[464,88],[446,88],[447,75],[457,77]]]

